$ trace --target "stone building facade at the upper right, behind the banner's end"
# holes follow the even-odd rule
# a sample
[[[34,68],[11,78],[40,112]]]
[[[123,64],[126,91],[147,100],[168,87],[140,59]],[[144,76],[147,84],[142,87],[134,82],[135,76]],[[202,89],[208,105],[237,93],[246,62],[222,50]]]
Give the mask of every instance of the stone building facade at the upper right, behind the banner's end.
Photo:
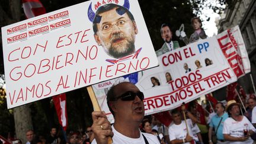
[[[218,33],[239,25],[251,63],[251,75],[248,73],[238,79],[238,83],[249,94],[254,92],[251,76],[254,85],[256,84],[256,1],[235,0],[233,4],[232,9],[225,9],[222,18],[219,20],[219,24],[217,24]]]

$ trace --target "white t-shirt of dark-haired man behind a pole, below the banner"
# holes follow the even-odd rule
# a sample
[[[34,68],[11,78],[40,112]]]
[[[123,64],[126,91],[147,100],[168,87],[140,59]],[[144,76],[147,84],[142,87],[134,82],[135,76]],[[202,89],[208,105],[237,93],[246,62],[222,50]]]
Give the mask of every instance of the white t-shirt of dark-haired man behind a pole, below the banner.
[[[192,121],[190,119],[187,119],[187,124],[188,124],[188,133],[190,134],[191,137],[193,137],[193,139],[196,139],[196,137],[193,136],[193,133],[191,130],[191,126],[193,126]],[[187,127],[185,125],[184,120],[182,120],[181,124],[179,125],[174,123],[169,127],[170,140],[174,140],[174,139],[182,140],[182,139],[185,139],[186,136],[187,136]],[[186,144],[189,144],[189,142],[187,142]]]

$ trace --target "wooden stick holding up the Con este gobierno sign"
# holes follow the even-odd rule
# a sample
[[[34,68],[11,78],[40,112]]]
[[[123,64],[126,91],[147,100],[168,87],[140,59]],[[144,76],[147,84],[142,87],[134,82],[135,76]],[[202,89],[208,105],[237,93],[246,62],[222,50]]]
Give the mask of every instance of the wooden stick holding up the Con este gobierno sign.
[[[89,97],[91,98],[91,102],[92,102],[92,105],[94,107],[94,110],[95,111],[101,111],[100,105],[98,104],[97,98],[94,94],[94,91],[93,91],[91,85],[87,87],[87,91],[89,93]],[[111,143],[113,143],[113,140],[112,140],[112,137],[109,136],[108,137],[108,144],[111,144]]]

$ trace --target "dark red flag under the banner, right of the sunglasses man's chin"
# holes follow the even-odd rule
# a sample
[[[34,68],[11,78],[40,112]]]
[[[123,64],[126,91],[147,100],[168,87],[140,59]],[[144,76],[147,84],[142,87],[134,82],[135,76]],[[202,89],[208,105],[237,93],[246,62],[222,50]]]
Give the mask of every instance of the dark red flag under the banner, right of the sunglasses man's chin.
[[[162,124],[167,127],[172,122],[172,117],[169,111],[162,111],[160,113],[153,114],[153,116],[155,116],[156,119],[158,119]]]

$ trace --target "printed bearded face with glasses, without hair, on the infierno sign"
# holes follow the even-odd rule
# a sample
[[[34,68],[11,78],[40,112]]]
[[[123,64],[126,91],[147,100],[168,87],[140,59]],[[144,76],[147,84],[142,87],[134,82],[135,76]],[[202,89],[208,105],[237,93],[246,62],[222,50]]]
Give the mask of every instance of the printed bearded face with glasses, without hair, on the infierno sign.
[[[138,30],[135,21],[130,20],[127,13],[119,15],[116,9],[99,14],[101,21],[97,24],[98,31],[94,37],[108,55],[120,58],[135,52]]]

